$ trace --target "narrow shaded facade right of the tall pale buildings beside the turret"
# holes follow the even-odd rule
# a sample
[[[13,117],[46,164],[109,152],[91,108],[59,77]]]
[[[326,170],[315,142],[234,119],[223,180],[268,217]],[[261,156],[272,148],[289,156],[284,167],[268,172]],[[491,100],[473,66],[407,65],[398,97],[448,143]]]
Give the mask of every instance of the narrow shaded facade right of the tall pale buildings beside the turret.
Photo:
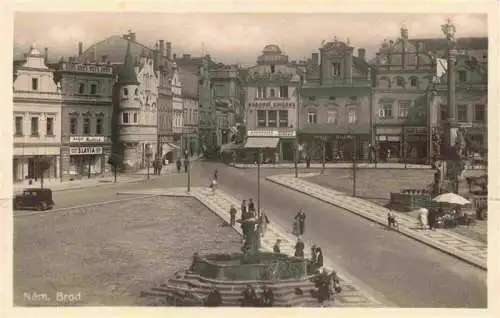
[[[182,83],[182,101],[184,106],[183,127],[184,140],[182,149],[187,149],[190,155],[199,153],[199,95],[198,76],[183,68],[179,68]]]

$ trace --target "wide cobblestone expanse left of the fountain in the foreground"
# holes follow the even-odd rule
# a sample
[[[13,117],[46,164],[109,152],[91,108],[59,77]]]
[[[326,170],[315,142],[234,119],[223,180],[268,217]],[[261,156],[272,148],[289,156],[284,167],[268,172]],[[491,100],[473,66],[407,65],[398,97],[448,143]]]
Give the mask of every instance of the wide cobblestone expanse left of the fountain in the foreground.
[[[198,201],[167,197],[15,217],[14,304],[158,305],[140,292],[187,268],[194,252],[240,249],[220,225]],[[80,300],[58,302],[57,292]],[[27,299],[43,294],[50,300]]]

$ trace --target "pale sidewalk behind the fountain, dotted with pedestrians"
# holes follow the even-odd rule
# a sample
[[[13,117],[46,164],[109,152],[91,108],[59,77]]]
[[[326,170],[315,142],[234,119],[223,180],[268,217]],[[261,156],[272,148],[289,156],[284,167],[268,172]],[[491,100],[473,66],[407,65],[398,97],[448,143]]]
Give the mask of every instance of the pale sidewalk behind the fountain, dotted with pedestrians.
[[[191,193],[187,193],[184,188],[170,188],[170,189],[145,189],[138,191],[127,191],[119,192],[121,195],[137,195],[137,194],[157,194],[164,196],[177,196],[186,197],[191,196],[196,198],[207,208],[212,210],[218,216],[221,217],[225,222],[229,223],[229,208],[231,205],[239,207],[240,201],[236,198],[228,195],[227,193],[218,189],[216,194],[213,195],[209,188],[192,188]],[[276,222],[272,221],[272,211],[267,212],[271,223],[268,226],[266,235],[262,239],[262,249],[266,251],[272,251],[272,247],[277,239],[281,239],[281,252],[293,255],[294,246],[296,243],[295,236],[291,233],[287,233],[284,229],[276,225]],[[234,228],[240,235],[242,235],[240,226]],[[305,257],[310,257],[311,245],[306,243],[304,249]],[[338,269],[338,266],[329,260],[324,259],[325,268],[328,271]],[[342,286],[342,292],[335,295],[334,306],[340,307],[381,307],[382,304],[374,299],[372,296],[368,295],[366,292],[361,291],[359,287],[352,283],[352,279],[346,277],[345,273],[337,272],[340,278],[340,284]]]

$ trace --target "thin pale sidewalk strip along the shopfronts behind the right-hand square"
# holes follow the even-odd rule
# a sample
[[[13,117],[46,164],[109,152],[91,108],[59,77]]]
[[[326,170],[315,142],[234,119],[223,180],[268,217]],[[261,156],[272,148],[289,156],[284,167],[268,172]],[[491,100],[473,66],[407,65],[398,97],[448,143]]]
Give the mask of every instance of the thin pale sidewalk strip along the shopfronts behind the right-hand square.
[[[235,167],[235,168],[240,168],[240,169],[249,169],[249,168],[256,168],[257,167],[256,164],[251,164],[251,163],[236,163],[236,164],[230,163],[229,165],[232,167]],[[266,164],[261,164],[260,167],[261,168],[274,168],[274,169],[294,169],[295,164],[293,164],[293,163],[276,163],[276,164],[266,163]],[[299,163],[297,165],[297,167],[300,169],[304,169],[304,168],[306,168],[306,164]],[[323,167],[323,165],[321,163],[311,163],[311,168],[321,169],[322,167]],[[356,165],[356,167],[358,169],[431,169],[432,168],[430,165],[407,164],[405,167],[404,163],[385,163],[385,162],[381,162],[381,163],[377,163],[377,164],[360,162]],[[326,163],[325,168],[327,168],[327,169],[333,169],[333,168],[352,169],[352,163],[350,163],[350,162]],[[488,169],[488,167],[482,166],[482,165],[481,166],[477,165],[474,167],[468,166],[467,169],[485,170],[485,169]]]

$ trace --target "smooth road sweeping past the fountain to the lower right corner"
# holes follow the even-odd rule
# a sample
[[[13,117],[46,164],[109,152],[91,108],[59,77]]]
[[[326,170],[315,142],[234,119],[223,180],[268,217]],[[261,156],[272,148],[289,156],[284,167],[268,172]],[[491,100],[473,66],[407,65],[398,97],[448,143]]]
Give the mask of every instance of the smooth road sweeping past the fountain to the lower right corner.
[[[192,185],[208,186],[214,169],[220,187],[239,199],[257,200],[256,170],[235,169],[220,163],[193,164]],[[307,214],[305,239],[323,248],[375,297],[398,307],[484,308],[486,272],[394,231],[386,231],[343,209],[263,180],[289,173],[263,169],[261,207],[285,229],[290,229],[299,207]],[[313,172],[313,169],[311,171]],[[186,175],[157,177],[149,183],[105,185],[55,193],[57,208],[120,199],[116,192],[147,187],[185,186]]]

